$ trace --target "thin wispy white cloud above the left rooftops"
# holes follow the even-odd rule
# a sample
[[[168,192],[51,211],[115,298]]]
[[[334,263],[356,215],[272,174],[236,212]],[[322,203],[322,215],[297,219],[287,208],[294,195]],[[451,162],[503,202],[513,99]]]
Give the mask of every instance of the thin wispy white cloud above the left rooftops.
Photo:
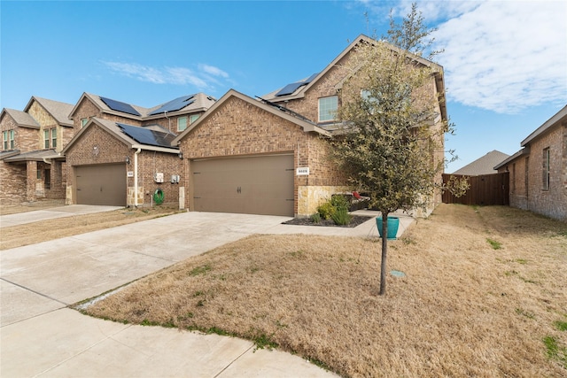
[[[196,71],[187,67],[152,67],[137,63],[102,62],[114,73],[154,84],[190,85],[198,89],[212,89],[220,84],[216,79],[229,79],[229,74],[215,66],[198,65]]]

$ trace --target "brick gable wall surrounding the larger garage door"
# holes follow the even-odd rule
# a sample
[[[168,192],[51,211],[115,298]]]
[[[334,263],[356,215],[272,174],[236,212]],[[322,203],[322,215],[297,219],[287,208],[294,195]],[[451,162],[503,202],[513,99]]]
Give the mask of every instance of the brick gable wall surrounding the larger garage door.
[[[308,176],[294,179],[294,212],[297,214],[298,208],[302,208],[298,206],[299,187],[344,184],[344,178],[328,158],[328,148],[328,143],[319,135],[307,134],[289,120],[236,96],[230,97],[185,135],[180,144],[186,164],[182,178],[186,188],[185,207],[192,210],[190,159],[293,152],[294,168],[308,166],[310,169]]]

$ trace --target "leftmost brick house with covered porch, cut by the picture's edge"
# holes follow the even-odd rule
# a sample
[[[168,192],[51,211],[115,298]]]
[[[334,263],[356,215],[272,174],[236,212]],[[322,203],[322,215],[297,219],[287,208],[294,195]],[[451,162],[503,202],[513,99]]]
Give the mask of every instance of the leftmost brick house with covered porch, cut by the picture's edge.
[[[65,195],[65,158],[59,152],[74,134],[72,104],[32,96],[23,112],[0,114],[0,199],[3,202],[61,199]]]

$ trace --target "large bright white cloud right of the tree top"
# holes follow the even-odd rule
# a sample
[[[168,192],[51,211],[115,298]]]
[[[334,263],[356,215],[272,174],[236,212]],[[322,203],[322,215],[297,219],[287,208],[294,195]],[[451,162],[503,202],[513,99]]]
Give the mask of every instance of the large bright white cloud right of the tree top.
[[[447,96],[493,112],[567,102],[563,2],[485,2],[439,24]]]

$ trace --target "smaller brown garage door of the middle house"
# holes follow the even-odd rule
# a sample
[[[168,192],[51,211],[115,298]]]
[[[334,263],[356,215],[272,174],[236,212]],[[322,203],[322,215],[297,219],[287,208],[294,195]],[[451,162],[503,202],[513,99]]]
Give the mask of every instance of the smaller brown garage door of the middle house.
[[[126,166],[75,166],[77,204],[126,206]]]

